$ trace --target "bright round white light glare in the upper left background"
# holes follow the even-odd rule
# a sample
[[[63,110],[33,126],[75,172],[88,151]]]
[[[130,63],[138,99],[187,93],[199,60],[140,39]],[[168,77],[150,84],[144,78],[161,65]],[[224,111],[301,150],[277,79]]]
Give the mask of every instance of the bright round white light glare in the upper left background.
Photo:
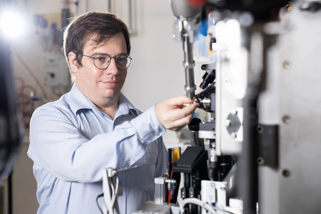
[[[26,31],[25,18],[18,11],[4,11],[0,14],[0,29],[9,38],[21,37]]]

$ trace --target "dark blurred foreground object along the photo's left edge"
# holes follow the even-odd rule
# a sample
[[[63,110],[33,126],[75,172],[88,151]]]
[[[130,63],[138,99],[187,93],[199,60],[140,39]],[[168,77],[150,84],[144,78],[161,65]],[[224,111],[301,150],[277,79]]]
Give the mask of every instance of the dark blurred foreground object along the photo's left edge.
[[[0,16],[9,14],[5,11],[8,7],[7,1],[0,1]],[[10,20],[6,21],[13,24]],[[11,34],[4,32],[4,29],[6,28],[2,26],[0,31],[0,182],[11,173],[19,154],[23,136],[22,118],[17,108],[10,65],[10,44],[7,35]],[[11,30],[15,31],[16,29]]]

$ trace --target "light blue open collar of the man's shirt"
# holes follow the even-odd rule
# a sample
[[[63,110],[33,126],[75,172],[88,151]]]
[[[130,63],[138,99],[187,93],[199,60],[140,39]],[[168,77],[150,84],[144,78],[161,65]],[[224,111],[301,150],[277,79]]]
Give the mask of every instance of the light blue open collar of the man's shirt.
[[[80,109],[91,109],[98,114],[102,112],[97,108],[97,106],[91,102],[82,92],[77,88],[76,84],[73,85],[69,92],[69,106],[71,111],[76,115],[77,111]],[[119,108],[118,111],[123,112],[123,114],[128,114],[132,110],[134,116],[137,117],[139,110],[134,107],[132,103],[125,97],[124,94],[119,95]],[[117,113],[116,113],[117,114]]]

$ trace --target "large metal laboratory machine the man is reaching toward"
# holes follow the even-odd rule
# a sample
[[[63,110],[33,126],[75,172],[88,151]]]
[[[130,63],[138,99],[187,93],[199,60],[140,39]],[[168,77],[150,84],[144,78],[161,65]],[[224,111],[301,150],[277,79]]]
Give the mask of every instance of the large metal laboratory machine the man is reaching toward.
[[[320,212],[321,1],[170,4],[173,38],[183,44],[186,94],[211,121],[192,121],[192,147],[173,166],[169,156],[168,173],[155,179],[156,201],[135,213]],[[203,19],[215,20],[209,49],[216,61],[202,65],[204,90],[195,94],[192,50]],[[178,209],[177,193],[169,203],[167,193],[177,192],[180,180],[170,172],[184,178],[181,198],[198,206]]]

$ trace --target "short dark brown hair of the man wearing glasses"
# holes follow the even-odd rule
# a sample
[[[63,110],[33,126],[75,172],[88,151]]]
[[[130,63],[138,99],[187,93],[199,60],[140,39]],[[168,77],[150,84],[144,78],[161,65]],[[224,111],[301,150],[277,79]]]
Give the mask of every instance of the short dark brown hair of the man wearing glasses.
[[[126,24],[116,15],[108,12],[93,11],[71,18],[64,33],[64,53],[69,67],[72,82],[74,75],[71,71],[68,53],[83,54],[83,47],[92,35],[97,35],[93,40],[94,45],[102,45],[117,33],[122,32],[126,40],[127,54],[130,54],[129,32]],[[76,54],[78,66],[82,66],[82,55]]]

